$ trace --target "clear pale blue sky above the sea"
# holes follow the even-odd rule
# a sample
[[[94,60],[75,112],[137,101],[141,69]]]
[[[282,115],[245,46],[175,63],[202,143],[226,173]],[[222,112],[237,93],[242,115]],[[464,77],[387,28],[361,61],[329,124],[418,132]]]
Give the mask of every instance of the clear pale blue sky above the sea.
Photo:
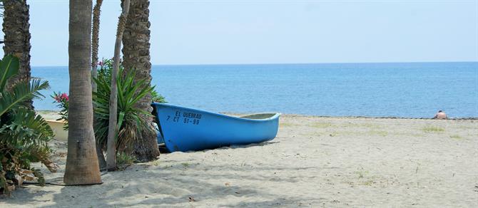
[[[68,1],[28,2],[31,65],[66,66]],[[478,0],[152,0],[150,11],[153,64],[478,61]],[[113,56],[120,12],[104,1],[100,57]]]

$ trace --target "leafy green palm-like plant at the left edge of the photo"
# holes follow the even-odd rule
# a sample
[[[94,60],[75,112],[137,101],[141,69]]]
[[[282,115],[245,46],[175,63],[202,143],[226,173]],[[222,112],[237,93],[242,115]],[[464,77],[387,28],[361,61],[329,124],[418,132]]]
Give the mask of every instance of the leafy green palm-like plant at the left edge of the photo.
[[[39,90],[49,88],[47,81],[38,79],[10,83],[19,73],[19,59],[5,56],[0,60],[0,193],[9,194],[23,180],[34,180],[41,185],[44,177],[30,162],[42,162],[52,172],[56,171],[49,160],[48,142],[54,136],[44,118],[23,105],[33,98],[44,98]],[[34,175],[32,177],[31,175]]]

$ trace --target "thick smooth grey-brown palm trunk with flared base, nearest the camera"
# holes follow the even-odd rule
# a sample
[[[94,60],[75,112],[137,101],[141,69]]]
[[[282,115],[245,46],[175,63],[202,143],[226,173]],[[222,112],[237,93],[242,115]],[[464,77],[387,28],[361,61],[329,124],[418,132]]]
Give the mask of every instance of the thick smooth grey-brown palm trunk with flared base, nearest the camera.
[[[70,0],[66,184],[101,183],[91,103],[91,7],[91,0]]]

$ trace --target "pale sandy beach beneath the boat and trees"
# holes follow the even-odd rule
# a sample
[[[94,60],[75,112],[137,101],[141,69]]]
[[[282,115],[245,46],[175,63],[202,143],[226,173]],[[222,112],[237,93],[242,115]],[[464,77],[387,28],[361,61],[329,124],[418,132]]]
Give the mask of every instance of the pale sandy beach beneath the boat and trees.
[[[54,141],[63,175],[66,144]],[[478,120],[284,115],[258,145],[162,154],[80,187],[27,185],[0,207],[478,207]]]

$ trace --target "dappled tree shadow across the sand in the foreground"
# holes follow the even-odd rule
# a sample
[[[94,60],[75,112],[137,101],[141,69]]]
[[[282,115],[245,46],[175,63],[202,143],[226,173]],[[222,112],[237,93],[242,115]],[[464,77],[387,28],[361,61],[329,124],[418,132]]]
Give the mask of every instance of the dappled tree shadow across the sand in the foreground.
[[[316,167],[303,167],[308,171]],[[212,171],[205,171],[212,170]],[[228,170],[223,172],[221,170]],[[322,199],[291,197],[287,192],[270,192],[270,189],[255,187],[268,182],[293,184],[300,179],[267,174],[250,174],[251,171],[298,171],[295,167],[238,167],[235,165],[190,164],[181,161],[172,166],[161,167],[136,164],[124,171],[103,175],[103,184],[93,186],[68,186],[48,192],[22,192],[21,199],[9,204],[44,204],[44,207],[126,207],[126,206],[224,206],[224,207],[270,207],[292,206],[317,202]],[[246,181],[231,183],[230,180]],[[53,194],[53,199],[44,202],[35,199],[41,194]],[[260,197],[260,201],[253,200]],[[230,200],[233,199],[233,200]],[[238,199],[240,199],[238,201]],[[190,202],[191,201],[191,202]],[[218,204],[220,202],[220,204]],[[307,202],[307,203],[306,203]],[[53,203],[53,204],[52,204]],[[310,207],[310,206],[309,206]]]

